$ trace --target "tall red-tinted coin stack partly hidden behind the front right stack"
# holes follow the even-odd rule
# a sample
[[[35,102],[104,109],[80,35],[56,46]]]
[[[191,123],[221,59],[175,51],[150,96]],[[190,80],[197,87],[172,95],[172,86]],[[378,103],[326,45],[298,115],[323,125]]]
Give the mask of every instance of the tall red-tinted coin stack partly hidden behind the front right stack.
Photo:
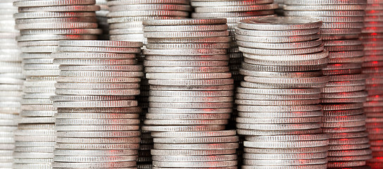
[[[362,104],[366,101],[365,75],[361,75],[366,0],[287,0],[284,14],[310,16],[323,21],[321,38],[329,51],[323,70],[330,80],[322,89],[325,117],[323,131],[329,133],[329,168],[357,167],[371,158]],[[303,5],[304,4],[304,5]]]

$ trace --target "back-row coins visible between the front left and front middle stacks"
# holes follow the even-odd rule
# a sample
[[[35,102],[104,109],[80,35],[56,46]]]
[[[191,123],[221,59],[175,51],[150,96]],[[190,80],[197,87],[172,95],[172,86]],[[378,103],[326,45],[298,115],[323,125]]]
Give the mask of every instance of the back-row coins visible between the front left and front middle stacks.
[[[191,7],[188,0],[108,0],[111,40],[146,40],[142,20],[187,18]]]

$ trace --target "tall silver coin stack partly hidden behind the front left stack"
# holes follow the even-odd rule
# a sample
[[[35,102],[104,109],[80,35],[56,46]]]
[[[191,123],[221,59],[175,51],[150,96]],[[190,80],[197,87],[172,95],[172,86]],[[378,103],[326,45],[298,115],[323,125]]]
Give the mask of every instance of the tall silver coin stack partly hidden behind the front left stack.
[[[58,65],[50,54],[58,40],[97,39],[99,6],[94,0],[15,1],[15,27],[20,30],[18,45],[23,54],[22,111],[15,132],[13,168],[51,168],[54,156],[54,114],[49,100],[54,95]]]

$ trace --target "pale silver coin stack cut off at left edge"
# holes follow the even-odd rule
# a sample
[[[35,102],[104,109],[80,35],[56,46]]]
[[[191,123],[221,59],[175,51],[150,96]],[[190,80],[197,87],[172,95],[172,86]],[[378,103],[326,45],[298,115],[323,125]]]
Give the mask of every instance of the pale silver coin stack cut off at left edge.
[[[20,49],[16,43],[14,0],[0,2],[0,166],[12,168],[13,132],[17,129],[23,87]]]

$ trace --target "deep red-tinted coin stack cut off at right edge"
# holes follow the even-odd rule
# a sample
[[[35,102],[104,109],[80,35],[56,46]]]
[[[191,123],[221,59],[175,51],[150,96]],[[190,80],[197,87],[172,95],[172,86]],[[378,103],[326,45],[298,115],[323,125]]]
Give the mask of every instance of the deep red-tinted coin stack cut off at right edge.
[[[372,159],[368,161],[373,169],[382,168],[383,165],[383,1],[367,1],[365,27],[362,30],[365,56],[363,74],[368,75],[366,87],[368,91],[367,102],[364,105],[367,115],[366,127],[370,137]]]

